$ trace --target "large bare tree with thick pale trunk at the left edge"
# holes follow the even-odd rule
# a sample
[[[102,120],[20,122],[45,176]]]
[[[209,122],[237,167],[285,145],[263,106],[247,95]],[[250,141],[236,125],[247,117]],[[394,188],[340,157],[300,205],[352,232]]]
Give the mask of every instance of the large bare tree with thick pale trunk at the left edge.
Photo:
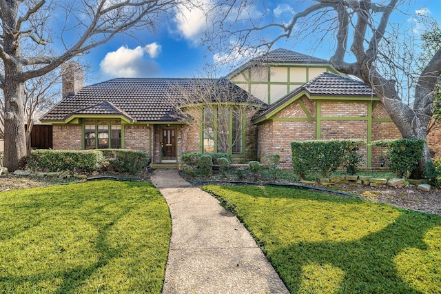
[[[191,0],[45,1],[0,0],[0,88],[4,93],[3,165],[16,170],[25,164],[25,83],[58,68],[76,55],[131,30],[153,31],[164,17]],[[55,33],[52,28],[59,28]],[[38,55],[53,46],[52,55]],[[62,49],[60,49],[62,48]],[[52,51],[46,51],[52,52]]]

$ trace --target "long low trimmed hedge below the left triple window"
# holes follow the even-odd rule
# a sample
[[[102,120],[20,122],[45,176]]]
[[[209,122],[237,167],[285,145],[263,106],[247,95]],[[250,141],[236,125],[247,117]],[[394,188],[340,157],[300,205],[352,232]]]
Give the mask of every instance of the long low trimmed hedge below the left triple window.
[[[139,173],[149,163],[148,153],[127,149],[101,150],[32,150],[28,168],[45,172],[70,170],[92,173],[94,170],[114,170]]]

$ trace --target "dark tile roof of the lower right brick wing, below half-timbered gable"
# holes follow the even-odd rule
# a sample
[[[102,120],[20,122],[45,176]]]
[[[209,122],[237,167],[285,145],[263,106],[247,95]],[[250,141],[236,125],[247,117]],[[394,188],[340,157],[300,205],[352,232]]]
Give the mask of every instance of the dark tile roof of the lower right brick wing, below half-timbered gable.
[[[372,89],[359,79],[336,75],[331,72],[322,72],[318,77],[290,92],[266,110],[260,111],[253,120],[256,121],[271,113],[302,91],[307,92],[311,97],[327,96],[336,97],[337,99],[338,97],[377,97]]]

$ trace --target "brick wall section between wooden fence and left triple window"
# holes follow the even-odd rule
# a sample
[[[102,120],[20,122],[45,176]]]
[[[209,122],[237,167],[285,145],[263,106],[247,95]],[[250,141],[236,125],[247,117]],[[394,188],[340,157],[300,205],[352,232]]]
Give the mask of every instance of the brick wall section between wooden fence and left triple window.
[[[52,148],[54,150],[81,150],[81,125],[52,126]]]

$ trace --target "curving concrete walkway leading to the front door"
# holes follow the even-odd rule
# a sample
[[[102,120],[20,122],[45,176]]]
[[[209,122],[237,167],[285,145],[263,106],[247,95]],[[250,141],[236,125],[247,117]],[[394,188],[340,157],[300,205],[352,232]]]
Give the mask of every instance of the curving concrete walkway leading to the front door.
[[[172,215],[163,293],[289,293],[236,216],[177,170],[152,182]]]

